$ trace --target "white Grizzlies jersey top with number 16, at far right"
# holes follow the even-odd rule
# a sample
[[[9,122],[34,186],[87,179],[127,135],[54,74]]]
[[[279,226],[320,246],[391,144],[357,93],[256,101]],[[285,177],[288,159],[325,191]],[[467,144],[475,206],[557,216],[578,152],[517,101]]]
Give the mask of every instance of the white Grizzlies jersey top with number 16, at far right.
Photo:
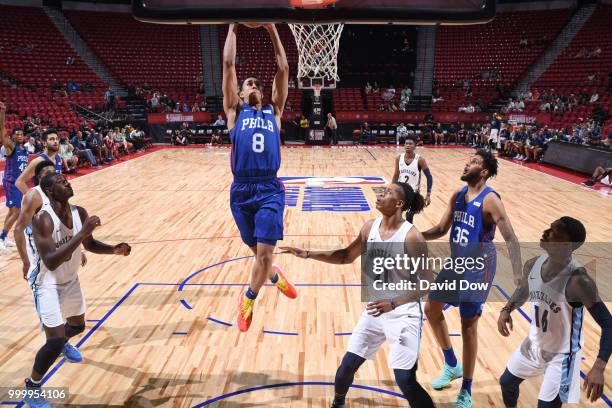
[[[545,353],[575,353],[582,348],[584,307],[573,307],[565,297],[572,273],[581,265],[571,262],[550,281],[542,281],[542,265],[548,255],[540,256],[529,272],[531,307],[531,344]]]

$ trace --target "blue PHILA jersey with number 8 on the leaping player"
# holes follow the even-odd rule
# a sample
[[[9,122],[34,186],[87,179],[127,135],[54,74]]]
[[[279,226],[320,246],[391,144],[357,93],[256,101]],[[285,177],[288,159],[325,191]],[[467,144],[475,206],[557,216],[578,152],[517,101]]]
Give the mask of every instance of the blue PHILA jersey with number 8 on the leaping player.
[[[245,182],[275,178],[280,168],[280,131],[272,105],[261,110],[242,105],[236,126],[230,132],[232,173]]]

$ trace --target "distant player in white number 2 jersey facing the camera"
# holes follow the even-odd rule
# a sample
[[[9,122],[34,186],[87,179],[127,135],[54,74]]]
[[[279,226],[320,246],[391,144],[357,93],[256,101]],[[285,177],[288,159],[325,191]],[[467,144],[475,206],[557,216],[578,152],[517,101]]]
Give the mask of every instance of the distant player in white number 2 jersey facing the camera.
[[[421,172],[425,174],[427,179],[427,194],[425,195],[425,207],[431,203],[431,188],[433,186],[433,176],[427,165],[427,161],[421,155],[416,154],[417,138],[414,135],[406,136],[404,142],[405,153],[400,154],[395,158],[395,170],[393,173],[393,182],[406,183],[412,189],[420,193],[421,191]],[[412,222],[414,214],[409,212],[406,219]]]

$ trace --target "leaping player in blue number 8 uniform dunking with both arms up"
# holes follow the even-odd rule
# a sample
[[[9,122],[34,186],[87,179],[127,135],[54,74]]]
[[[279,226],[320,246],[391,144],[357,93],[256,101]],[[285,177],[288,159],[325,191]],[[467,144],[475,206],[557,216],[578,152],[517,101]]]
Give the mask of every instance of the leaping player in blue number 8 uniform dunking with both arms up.
[[[237,92],[237,25],[230,24],[223,49],[223,108],[232,141],[234,175],[230,208],[242,241],[255,254],[250,286],[238,306],[240,331],[247,331],[251,325],[255,299],[266,278],[287,297],[297,297],[281,269],[272,264],[276,241],[283,238],[285,192],[276,174],[281,160],[280,127],[289,92],[289,64],[274,24],[265,25],[265,29],[270,34],[277,65],[270,105],[263,105],[262,84],[257,78],[247,78]]]

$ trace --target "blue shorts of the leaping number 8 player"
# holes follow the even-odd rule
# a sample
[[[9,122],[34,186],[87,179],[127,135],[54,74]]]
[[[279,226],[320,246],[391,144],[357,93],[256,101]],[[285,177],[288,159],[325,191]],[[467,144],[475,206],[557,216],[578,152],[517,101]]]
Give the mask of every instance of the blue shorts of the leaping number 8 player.
[[[248,246],[258,242],[276,245],[276,241],[283,239],[285,189],[280,180],[269,178],[258,183],[234,180],[230,208],[240,237]]]

